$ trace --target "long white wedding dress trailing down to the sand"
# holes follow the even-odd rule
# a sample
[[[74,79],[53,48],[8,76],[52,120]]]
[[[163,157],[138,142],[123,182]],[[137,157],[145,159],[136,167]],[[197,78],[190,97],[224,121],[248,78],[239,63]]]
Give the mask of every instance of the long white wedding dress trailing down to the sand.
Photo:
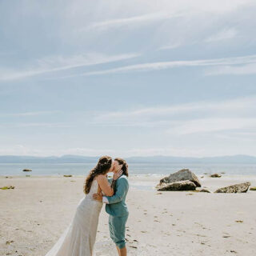
[[[78,203],[70,226],[46,256],[91,256],[98,228],[98,217],[102,202],[92,198],[98,192],[98,182],[94,180],[90,193]]]

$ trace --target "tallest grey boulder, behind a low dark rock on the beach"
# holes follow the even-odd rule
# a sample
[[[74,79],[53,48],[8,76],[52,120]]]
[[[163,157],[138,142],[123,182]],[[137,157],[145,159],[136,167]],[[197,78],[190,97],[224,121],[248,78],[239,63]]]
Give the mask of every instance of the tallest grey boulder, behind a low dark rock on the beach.
[[[161,185],[162,183],[181,182],[181,181],[190,181],[190,182],[194,182],[196,186],[201,186],[197,175],[192,173],[189,169],[178,170],[176,173],[170,174],[170,176],[162,178],[160,180],[159,185]]]

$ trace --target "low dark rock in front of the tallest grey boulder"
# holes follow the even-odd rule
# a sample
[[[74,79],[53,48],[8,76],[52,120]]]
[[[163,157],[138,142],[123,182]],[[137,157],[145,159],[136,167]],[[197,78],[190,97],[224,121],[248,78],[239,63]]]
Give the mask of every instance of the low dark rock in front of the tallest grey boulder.
[[[181,181],[159,184],[157,186],[158,191],[181,191],[181,190],[195,190],[196,186],[194,182]]]

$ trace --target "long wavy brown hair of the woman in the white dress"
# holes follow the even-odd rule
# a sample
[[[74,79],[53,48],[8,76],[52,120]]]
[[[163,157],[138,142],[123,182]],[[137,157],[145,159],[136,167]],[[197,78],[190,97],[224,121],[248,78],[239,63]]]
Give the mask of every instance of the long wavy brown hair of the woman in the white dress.
[[[86,181],[84,183],[83,192],[85,194],[89,194],[90,186],[94,181],[94,178],[99,174],[103,174],[103,175],[107,174],[111,165],[112,165],[112,158],[110,158],[108,155],[105,155],[98,159],[97,166],[95,166],[94,169],[90,170],[90,174],[88,174]]]

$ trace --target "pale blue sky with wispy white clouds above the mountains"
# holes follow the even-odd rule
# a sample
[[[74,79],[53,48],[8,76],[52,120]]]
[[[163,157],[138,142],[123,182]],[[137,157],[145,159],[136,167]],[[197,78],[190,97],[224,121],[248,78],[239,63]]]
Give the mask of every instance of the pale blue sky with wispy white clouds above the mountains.
[[[0,0],[0,154],[256,156],[255,13]]]

